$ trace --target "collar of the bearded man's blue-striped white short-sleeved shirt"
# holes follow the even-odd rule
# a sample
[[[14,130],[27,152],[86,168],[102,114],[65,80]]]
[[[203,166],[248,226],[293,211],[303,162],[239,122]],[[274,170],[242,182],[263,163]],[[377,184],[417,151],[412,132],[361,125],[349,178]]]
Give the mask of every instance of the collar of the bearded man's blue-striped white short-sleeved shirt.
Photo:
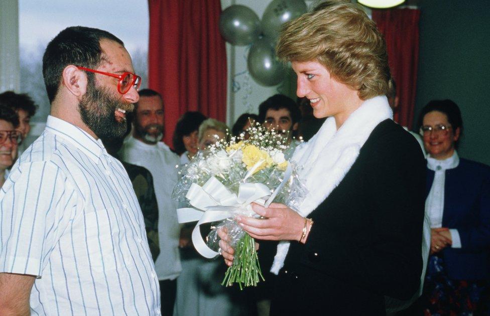
[[[100,139],[93,138],[80,127],[60,118],[48,115],[46,130],[66,139],[96,163],[100,161],[101,155],[109,155]]]

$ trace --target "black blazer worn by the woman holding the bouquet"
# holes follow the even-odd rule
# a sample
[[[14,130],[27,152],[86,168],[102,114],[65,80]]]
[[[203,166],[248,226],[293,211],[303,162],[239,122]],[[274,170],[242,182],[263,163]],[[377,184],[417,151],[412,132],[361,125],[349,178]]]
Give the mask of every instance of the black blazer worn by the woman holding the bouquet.
[[[291,242],[273,315],[383,315],[384,296],[409,299],[422,273],[425,160],[392,120],[378,124],[357,160]]]

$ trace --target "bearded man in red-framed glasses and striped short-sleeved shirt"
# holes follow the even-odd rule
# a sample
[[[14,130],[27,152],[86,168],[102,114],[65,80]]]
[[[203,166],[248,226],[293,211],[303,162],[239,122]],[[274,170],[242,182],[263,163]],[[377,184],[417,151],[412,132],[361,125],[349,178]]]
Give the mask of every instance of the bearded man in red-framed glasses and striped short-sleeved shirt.
[[[0,191],[0,314],[160,313],[128,174],[99,138],[122,136],[140,78],[112,34],[70,27],[47,46],[43,134]]]

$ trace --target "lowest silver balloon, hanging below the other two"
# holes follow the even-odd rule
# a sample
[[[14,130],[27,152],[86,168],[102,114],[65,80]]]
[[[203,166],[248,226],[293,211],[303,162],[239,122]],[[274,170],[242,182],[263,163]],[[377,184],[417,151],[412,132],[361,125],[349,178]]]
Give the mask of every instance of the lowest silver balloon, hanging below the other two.
[[[252,78],[263,86],[280,83],[286,74],[285,65],[277,59],[274,47],[267,38],[259,39],[252,45],[247,66]]]

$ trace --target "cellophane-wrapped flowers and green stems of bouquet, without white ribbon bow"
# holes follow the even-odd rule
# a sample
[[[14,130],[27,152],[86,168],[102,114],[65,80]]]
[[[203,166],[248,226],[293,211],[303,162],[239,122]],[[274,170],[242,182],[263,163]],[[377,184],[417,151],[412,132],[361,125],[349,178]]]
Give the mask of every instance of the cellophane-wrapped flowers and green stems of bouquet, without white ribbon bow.
[[[218,140],[205,150],[199,151],[189,164],[179,170],[181,176],[174,188],[172,197],[179,207],[192,207],[186,198],[192,184],[203,186],[211,177],[216,178],[226,189],[239,195],[240,184],[259,183],[267,187],[269,195],[255,201],[265,204],[283,181],[285,185],[273,198],[274,203],[281,203],[293,210],[298,210],[306,196],[306,188],[300,182],[298,170],[293,162],[286,160],[285,137],[275,130],[269,130],[259,124],[249,128],[250,138],[231,137],[230,141]],[[244,134],[242,134],[243,136]],[[291,175],[285,179],[288,166]],[[228,243],[234,248],[234,260],[225,274],[223,285],[238,283],[240,288],[257,285],[263,279],[260,270],[254,239],[239,226],[236,216],[260,218],[250,204],[233,208],[230,217],[220,222],[211,223],[206,244],[212,250],[219,251],[218,229],[225,229]]]

